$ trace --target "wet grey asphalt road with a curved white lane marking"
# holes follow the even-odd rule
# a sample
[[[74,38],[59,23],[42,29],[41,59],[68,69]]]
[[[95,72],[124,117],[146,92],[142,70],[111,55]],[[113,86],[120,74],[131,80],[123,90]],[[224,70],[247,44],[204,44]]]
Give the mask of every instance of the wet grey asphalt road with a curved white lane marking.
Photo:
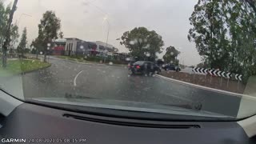
[[[126,66],[81,64],[50,58],[52,66],[22,76],[25,98],[104,98],[164,105],[202,104],[202,110],[236,116],[241,98],[158,77],[129,75]],[[230,103],[230,106],[227,104]]]

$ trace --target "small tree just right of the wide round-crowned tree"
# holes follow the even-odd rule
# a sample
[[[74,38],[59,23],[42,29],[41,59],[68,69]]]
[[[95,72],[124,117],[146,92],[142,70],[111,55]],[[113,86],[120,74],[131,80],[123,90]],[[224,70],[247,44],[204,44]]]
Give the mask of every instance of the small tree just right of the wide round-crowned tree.
[[[167,63],[174,63],[178,65],[178,54],[180,54],[180,52],[176,50],[174,46],[169,46],[166,48],[166,54],[162,58]]]

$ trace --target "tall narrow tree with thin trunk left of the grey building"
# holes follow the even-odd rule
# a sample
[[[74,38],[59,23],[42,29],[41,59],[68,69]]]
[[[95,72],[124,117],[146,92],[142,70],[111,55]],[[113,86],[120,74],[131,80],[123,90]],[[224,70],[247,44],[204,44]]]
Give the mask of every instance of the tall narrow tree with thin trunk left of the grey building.
[[[47,44],[51,43],[58,36],[62,37],[61,20],[57,18],[54,11],[46,11],[42,15],[40,24],[38,25],[38,38],[34,40],[33,46],[37,51],[44,53],[44,61],[46,62]]]

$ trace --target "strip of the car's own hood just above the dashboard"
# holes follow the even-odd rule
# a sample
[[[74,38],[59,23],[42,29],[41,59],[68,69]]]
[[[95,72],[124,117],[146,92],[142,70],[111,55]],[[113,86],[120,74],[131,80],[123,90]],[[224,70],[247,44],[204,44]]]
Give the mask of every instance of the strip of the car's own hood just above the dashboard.
[[[233,118],[204,110],[194,110],[188,105],[162,105],[147,102],[129,102],[98,98],[31,98],[39,102],[51,102],[73,106],[89,106],[112,110],[127,110],[158,114],[178,114],[210,118]]]

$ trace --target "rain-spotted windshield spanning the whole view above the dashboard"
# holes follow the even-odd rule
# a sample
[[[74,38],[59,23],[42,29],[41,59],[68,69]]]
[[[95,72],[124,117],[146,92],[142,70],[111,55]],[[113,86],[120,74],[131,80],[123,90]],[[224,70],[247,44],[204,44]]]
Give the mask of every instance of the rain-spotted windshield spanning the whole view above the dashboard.
[[[191,120],[256,114],[254,1],[0,0],[0,20],[0,88],[15,98]]]

